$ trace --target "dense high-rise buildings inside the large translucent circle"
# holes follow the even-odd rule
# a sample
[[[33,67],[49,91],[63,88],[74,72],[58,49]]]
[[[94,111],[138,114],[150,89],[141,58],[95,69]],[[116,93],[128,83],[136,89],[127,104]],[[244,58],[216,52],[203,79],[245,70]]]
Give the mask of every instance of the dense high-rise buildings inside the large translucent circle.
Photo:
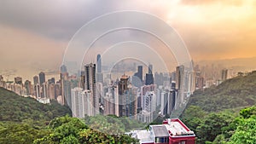
[[[145,68],[145,67],[144,67]],[[183,107],[195,90],[195,73],[185,66],[176,72],[153,73],[153,65],[137,66],[133,75],[125,73],[118,79],[104,77],[102,58],[96,64],[85,64],[74,87],[66,66],[61,66],[61,88],[64,103],[71,107],[73,117],[113,114],[149,123],[159,114],[171,115]]]

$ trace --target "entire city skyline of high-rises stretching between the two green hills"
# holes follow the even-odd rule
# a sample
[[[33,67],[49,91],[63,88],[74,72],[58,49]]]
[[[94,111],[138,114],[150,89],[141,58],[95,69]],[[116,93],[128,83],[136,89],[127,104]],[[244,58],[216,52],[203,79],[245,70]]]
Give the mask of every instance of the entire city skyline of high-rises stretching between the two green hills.
[[[62,65],[61,79],[56,82],[55,78],[46,81],[45,73],[40,72],[33,77],[33,84],[29,80],[23,83],[20,77],[16,77],[14,82],[5,82],[0,76],[0,86],[42,103],[56,100],[70,107],[73,117],[77,118],[113,114],[149,123],[158,115],[171,115],[184,107],[195,89],[220,84],[228,78],[226,69],[221,71],[219,81],[213,82],[205,80],[205,73],[199,66],[191,71],[181,65],[171,73],[154,72],[153,67],[151,64],[137,66],[137,72],[132,75],[124,73],[112,79],[103,75],[102,58],[97,55],[96,63],[85,64],[76,75],[70,75],[68,67]]]

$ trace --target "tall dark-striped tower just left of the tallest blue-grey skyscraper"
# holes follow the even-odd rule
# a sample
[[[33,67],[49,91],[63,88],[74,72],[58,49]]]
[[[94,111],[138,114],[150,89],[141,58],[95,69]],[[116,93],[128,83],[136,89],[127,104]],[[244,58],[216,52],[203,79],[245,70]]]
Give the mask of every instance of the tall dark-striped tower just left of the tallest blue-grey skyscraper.
[[[99,113],[99,97],[96,93],[96,64],[87,64],[84,66],[84,89],[91,91],[93,97],[92,106],[94,108],[93,115]]]

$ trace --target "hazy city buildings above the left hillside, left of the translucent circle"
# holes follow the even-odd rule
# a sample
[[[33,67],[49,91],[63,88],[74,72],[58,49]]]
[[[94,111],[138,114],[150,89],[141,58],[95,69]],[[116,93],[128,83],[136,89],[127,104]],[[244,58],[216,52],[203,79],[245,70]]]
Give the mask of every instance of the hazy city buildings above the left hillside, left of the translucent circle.
[[[0,87],[14,91],[18,95],[30,96],[41,103],[49,103],[49,100],[56,100],[63,104],[61,81],[55,82],[55,78],[49,78],[46,81],[44,72],[40,72],[33,77],[33,84],[29,80],[23,83],[20,77],[16,77],[15,81],[4,81],[3,76],[0,75]]]

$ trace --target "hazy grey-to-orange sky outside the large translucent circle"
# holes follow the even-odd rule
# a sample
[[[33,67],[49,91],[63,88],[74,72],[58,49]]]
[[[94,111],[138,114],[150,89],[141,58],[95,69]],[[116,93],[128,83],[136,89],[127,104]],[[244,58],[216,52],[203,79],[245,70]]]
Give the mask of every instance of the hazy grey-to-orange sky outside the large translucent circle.
[[[159,16],[177,30],[193,60],[255,57],[255,9],[254,0],[1,0],[0,74],[55,73],[74,33],[116,10]]]

